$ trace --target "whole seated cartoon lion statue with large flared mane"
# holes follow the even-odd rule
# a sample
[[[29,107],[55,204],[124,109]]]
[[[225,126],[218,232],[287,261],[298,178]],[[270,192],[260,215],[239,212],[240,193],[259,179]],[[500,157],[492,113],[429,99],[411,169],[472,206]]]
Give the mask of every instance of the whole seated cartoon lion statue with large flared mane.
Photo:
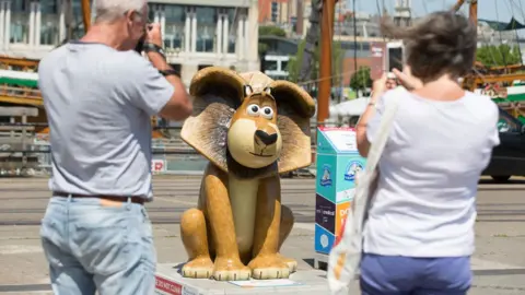
[[[312,163],[312,97],[261,72],[200,70],[183,140],[207,157],[198,205],[182,215],[186,278],[285,279],[298,262],[279,253],[293,227],[279,174]]]

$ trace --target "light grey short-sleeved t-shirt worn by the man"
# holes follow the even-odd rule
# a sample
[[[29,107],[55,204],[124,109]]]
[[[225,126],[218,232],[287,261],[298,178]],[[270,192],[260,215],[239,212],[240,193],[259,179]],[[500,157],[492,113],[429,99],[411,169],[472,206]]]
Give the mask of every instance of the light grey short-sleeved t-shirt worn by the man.
[[[70,43],[38,66],[52,191],[152,197],[151,119],[174,87],[143,57]]]

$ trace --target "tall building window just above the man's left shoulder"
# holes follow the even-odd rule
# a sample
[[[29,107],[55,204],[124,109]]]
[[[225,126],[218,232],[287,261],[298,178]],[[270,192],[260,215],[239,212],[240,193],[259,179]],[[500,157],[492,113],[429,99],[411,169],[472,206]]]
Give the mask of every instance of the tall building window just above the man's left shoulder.
[[[59,9],[58,0],[40,1],[40,44],[57,45],[59,40]]]

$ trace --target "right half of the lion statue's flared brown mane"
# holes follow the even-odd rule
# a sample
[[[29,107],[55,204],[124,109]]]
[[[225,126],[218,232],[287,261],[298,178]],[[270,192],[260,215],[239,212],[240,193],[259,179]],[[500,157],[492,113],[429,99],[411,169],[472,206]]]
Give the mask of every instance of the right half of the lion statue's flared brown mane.
[[[306,91],[288,81],[273,81],[267,88],[277,102],[277,120],[282,137],[279,173],[310,166],[310,118],[315,114],[314,99]]]

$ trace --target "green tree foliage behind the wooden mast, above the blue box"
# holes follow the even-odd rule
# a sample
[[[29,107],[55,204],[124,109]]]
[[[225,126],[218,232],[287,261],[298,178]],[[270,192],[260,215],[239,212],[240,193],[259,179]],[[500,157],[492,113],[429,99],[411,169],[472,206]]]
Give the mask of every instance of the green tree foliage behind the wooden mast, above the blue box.
[[[299,74],[301,72],[301,66],[303,62],[304,57],[304,49],[306,47],[306,40],[301,40],[298,46],[298,52],[295,56],[290,57],[290,61],[288,62],[287,71],[289,73],[289,80],[294,83],[299,82],[306,82],[306,81],[299,81]],[[332,63],[331,63],[331,71],[332,71],[332,80],[331,83],[334,86],[340,86],[342,82],[342,70],[343,70],[343,60],[345,60],[345,50],[341,47],[339,42],[334,42],[332,44]],[[320,45],[314,51],[313,57],[313,64],[311,69],[311,76],[307,78],[308,81],[315,81],[318,79],[319,74],[319,57],[320,57]]]

